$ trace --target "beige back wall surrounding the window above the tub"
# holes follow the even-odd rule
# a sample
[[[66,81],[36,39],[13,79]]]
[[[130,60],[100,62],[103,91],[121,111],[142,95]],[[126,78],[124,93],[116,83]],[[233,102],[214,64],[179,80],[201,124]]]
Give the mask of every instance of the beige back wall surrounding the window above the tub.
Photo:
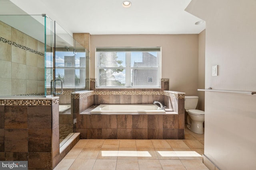
[[[198,34],[191,35],[91,35],[90,78],[95,78],[95,47],[162,47],[162,78],[169,90],[197,95]]]

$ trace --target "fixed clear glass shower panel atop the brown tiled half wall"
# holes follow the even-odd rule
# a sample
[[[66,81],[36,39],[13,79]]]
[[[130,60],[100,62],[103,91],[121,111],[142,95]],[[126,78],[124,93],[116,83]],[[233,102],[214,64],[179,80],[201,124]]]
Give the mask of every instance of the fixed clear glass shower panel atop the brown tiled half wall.
[[[52,57],[52,31],[46,16],[0,16],[0,72],[5,73],[0,96],[46,96],[45,57]]]

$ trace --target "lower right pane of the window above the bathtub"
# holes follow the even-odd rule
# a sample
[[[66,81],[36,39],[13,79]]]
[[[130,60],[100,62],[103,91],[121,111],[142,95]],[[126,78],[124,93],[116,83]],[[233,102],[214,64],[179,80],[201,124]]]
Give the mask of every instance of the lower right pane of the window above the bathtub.
[[[132,69],[132,86],[159,86],[157,69]]]

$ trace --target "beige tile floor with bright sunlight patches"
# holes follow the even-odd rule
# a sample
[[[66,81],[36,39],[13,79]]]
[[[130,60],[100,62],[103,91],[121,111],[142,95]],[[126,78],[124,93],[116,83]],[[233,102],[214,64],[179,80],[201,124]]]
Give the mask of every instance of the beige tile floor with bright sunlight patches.
[[[54,170],[208,170],[204,134],[185,140],[80,139]]]

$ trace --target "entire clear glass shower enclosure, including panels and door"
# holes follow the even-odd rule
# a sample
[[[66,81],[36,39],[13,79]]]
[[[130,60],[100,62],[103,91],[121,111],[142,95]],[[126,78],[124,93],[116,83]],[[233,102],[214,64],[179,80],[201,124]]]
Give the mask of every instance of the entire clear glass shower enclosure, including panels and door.
[[[42,15],[0,15],[0,96],[59,96],[60,145],[75,132],[72,93],[88,90],[86,49]]]

